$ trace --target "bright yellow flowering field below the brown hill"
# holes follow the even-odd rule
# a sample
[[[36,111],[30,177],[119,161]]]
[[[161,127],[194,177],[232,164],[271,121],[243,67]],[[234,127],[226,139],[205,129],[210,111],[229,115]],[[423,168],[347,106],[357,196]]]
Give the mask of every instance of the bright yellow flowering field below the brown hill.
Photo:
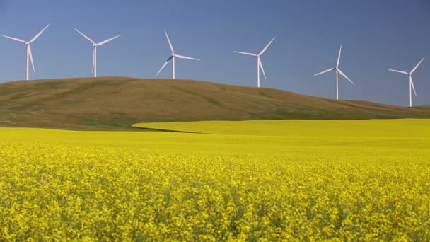
[[[430,120],[0,128],[0,241],[429,241]]]

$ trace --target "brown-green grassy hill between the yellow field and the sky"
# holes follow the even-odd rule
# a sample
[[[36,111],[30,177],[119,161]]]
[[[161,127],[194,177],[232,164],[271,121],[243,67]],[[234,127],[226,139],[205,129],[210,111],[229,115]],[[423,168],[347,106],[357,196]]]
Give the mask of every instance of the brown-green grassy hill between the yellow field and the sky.
[[[132,129],[137,122],[430,117],[403,108],[203,81],[100,77],[0,83],[0,127]]]

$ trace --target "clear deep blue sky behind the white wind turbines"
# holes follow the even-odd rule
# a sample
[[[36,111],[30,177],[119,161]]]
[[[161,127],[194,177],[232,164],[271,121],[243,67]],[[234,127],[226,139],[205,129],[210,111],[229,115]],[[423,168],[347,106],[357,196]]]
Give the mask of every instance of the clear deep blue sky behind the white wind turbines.
[[[344,45],[341,69],[355,83],[340,80],[340,98],[408,104],[407,76],[414,75],[414,105],[430,105],[430,1],[428,0],[0,0],[0,34],[30,40],[36,73],[31,79],[91,76],[91,44],[122,36],[98,48],[99,76],[153,78],[170,54],[168,30],[178,54],[177,78],[255,86],[255,59],[233,50],[259,52],[268,81],[263,87],[335,97],[333,67]],[[0,38],[0,81],[25,78],[25,46]],[[171,67],[161,77],[170,78]]]

